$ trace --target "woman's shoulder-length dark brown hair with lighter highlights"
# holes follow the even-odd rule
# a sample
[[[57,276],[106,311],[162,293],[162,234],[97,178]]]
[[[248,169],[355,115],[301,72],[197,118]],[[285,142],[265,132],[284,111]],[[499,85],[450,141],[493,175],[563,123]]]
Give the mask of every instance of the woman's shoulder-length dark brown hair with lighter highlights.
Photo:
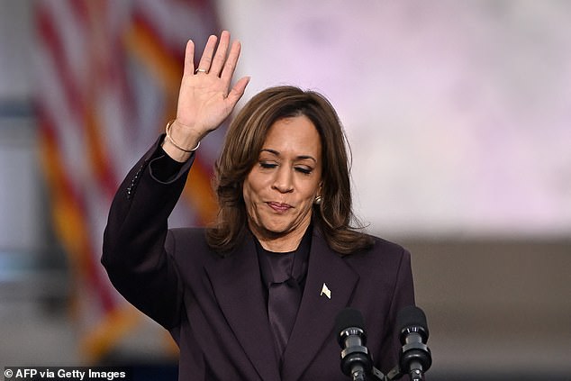
[[[258,162],[269,128],[274,122],[305,115],[313,122],[322,142],[322,203],[313,205],[313,225],[322,231],[329,247],[341,254],[373,244],[357,231],[351,204],[349,146],[339,116],[319,93],[295,86],[276,86],[252,97],[231,122],[222,153],[214,166],[214,190],[218,198],[217,220],[206,231],[208,243],[228,251],[240,241],[248,226],[242,184]]]

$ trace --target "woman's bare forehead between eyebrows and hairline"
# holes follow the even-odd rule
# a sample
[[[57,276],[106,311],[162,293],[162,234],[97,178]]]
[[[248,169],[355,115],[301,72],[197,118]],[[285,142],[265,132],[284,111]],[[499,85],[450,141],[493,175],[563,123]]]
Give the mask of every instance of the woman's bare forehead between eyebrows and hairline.
[[[313,122],[305,115],[279,119],[274,122],[266,136],[262,149],[280,153],[311,155],[321,158],[322,143]]]

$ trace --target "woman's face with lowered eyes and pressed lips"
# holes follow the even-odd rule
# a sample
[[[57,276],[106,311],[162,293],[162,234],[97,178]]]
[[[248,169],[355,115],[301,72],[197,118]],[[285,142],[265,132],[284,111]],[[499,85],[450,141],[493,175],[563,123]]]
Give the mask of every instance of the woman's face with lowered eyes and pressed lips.
[[[321,182],[322,144],[313,122],[302,115],[272,124],[242,186],[249,228],[266,249],[272,240],[295,249],[288,243],[297,245],[309,226]]]

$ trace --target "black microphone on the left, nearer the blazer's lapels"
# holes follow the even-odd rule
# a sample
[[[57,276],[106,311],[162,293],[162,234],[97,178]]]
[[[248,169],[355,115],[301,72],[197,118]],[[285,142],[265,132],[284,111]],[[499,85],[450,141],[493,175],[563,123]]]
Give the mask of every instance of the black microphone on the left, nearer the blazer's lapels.
[[[366,347],[367,333],[363,315],[353,308],[345,308],[335,318],[335,331],[341,347],[341,370],[353,381],[365,381],[373,369]]]

